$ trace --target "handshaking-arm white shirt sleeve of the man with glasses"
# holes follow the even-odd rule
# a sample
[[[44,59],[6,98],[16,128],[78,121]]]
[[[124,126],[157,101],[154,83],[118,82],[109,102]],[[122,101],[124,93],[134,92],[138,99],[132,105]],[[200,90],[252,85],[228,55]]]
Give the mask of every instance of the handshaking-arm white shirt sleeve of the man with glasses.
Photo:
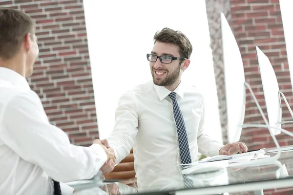
[[[135,99],[124,94],[115,112],[115,127],[106,139],[114,149],[116,164],[129,155],[138,132],[138,110]]]

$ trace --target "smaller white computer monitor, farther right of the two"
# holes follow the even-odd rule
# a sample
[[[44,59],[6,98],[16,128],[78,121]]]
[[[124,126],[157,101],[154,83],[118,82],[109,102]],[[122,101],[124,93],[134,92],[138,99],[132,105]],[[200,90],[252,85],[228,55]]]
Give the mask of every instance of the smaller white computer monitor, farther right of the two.
[[[278,81],[269,58],[256,46],[256,54],[258,59],[259,72],[265,103],[269,118],[269,125],[281,128],[282,106],[279,94]],[[280,134],[280,130],[271,129],[274,135]]]

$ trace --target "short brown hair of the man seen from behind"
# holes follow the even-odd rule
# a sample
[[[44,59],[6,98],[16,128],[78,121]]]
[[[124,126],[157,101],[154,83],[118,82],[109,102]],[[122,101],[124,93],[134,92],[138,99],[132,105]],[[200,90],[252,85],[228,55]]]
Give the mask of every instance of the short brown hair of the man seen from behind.
[[[11,59],[20,50],[25,35],[35,34],[35,21],[22,11],[0,8],[0,58]]]

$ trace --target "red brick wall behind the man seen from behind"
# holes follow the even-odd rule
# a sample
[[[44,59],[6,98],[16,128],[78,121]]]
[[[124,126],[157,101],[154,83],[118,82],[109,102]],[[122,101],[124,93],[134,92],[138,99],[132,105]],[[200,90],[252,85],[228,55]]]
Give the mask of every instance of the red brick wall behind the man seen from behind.
[[[36,20],[40,55],[28,82],[71,143],[91,144],[99,136],[83,0],[1,0],[0,7]]]

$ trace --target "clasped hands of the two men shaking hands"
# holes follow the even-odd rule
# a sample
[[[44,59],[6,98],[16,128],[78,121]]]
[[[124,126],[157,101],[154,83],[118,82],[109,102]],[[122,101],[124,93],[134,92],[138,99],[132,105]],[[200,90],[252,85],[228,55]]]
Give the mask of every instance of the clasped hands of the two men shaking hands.
[[[115,160],[116,160],[116,156],[115,156],[113,148],[109,146],[108,141],[106,139],[103,139],[102,141],[99,139],[95,139],[93,144],[99,144],[105,150],[105,153],[107,155],[107,161],[101,167],[100,170],[104,174],[110,173],[111,171],[113,171],[115,167]]]

